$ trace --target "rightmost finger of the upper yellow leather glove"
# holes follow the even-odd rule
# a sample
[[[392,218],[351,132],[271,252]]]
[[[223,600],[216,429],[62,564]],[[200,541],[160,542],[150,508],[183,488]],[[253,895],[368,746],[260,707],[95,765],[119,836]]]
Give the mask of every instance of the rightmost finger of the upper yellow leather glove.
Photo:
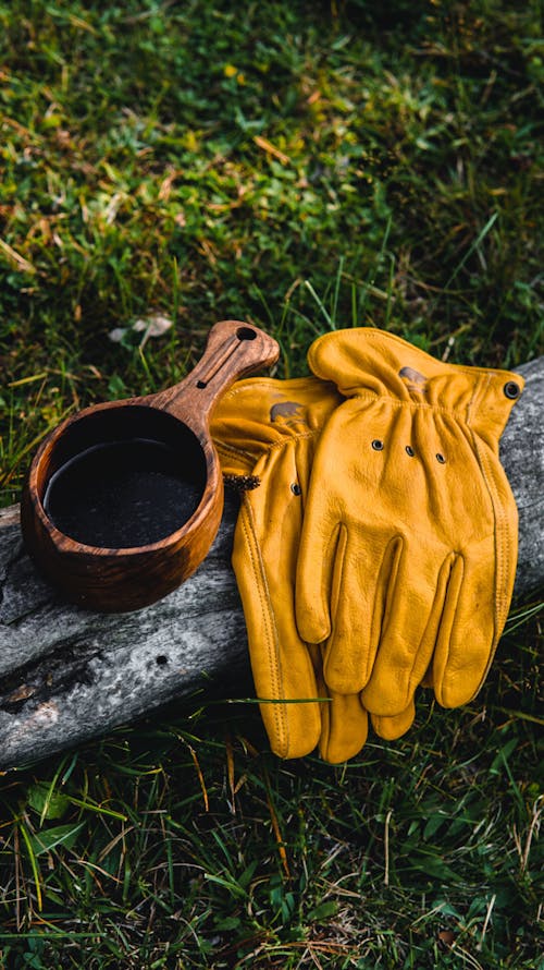
[[[480,690],[502,629],[493,597],[493,536],[457,557],[447,589],[432,664],[434,693],[443,707],[468,703]]]

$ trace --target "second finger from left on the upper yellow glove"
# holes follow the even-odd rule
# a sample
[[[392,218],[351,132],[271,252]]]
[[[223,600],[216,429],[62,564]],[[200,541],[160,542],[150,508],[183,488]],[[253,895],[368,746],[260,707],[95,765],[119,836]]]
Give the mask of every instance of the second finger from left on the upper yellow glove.
[[[344,530],[334,563],[331,590],[332,630],[326,642],[323,676],[331,691],[358,694],[368,683],[378,650],[385,592],[395,574],[399,539],[385,545],[380,535],[359,547]],[[376,570],[376,563],[382,561]]]

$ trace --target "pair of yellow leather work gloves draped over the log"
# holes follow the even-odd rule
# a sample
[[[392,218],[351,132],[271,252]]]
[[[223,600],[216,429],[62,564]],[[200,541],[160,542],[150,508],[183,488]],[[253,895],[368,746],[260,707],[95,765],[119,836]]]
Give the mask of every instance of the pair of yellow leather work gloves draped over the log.
[[[503,631],[517,508],[498,441],[523,380],[336,330],[311,377],[248,378],[212,435],[242,483],[233,567],[272,750],[338,763],[399,738],[415,693],[480,690]]]

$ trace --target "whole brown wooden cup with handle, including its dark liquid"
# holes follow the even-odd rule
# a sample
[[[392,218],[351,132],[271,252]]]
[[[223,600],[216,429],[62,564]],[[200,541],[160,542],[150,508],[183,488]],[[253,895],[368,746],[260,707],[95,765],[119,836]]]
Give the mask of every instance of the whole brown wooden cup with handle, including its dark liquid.
[[[270,366],[277,356],[277,343],[262,330],[222,320],[181,384],[86,408],[51,432],[26,478],[22,530],[38,567],[69,599],[104,613],[139,609],[195,571],[223,511],[211,410],[238,377]],[[173,489],[164,500],[168,516],[160,502],[152,514],[158,485]],[[157,495],[160,500],[161,488]],[[104,521],[94,539],[97,504]],[[144,524],[137,518],[141,507]],[[102,534],[110,528],[113,541]]]

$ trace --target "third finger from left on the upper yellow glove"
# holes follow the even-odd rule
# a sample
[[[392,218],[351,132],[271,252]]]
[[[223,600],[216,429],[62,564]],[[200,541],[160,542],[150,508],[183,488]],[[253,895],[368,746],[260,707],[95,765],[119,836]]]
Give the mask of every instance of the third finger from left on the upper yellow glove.
[[[390,589],[382,635],[362,702],[372,714],[403,715],[433,654],[454,556],[433,574],[422,551],[404,547]],[[425,569],[426,567],[426,569]]]

